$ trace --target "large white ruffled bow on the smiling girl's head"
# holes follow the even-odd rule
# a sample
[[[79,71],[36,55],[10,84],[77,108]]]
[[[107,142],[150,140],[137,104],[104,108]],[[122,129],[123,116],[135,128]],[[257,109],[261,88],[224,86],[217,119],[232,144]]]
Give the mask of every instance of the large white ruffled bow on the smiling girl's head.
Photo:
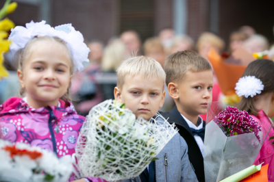
[[[26,27],[16,26],[12,29],[9,40],[12,41],[10,51],[12,54],[16,53],[19,49],[23,49],[27,42],[35,36],[57,36],[64,40],[73,56],[74,71],[82,71],[84,66],[82,62],[88,61],[88,53],[90,49],[84,43],[83,35],[74,29],[71,24],[59,25],[55,28],[45,24],[46,21],[39,23],[26,23]]]

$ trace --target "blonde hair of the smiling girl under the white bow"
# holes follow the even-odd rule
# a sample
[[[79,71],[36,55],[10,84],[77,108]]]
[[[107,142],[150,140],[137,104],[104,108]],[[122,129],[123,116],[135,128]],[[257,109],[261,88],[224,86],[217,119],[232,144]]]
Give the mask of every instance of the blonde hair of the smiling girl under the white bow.
[[[71,68],[70,68],[70,73],[71,75],[73,75],[73,56],[71,54],[71,49],[69,49],[69,46],[66,44],[66,42],[64,40],[62,40],[61,38],[58,38],[56,36],[53,37],[49,37],[49,36],[41,36],[41,37],[34,37],[32,38],[32,40],[29,40],[29,42],[27,42],[27,45],[23,48],[23,49],[19,49],[16,53],[14,58],[16,59],[16,62],[18,62],[18,70],[21,70],[23,73],[23,68],[25,66],[25,62],[27,60],[27,58],[29,57],[30,53],[32,52],[32,47],[34,44],[36,44],[36,42],[40,42],[40,41],[55,41],[55,42],[59,42],[60,44],[64,45],[64,47],[66,48],[67,52],[68,52],[68,56],[69,56],[69,60],[71,62]],[[69,83],[69,88],[71,88],[71,83]],[[60,98],[63,101],[66,102],[66,105],[69,104],[68,102],[71,102],[71,96],[69,95],[69,88],[67,89],[66,93]],[[24,96],[25,94],[25,89],[21,88],[20,89],[20,96]]]

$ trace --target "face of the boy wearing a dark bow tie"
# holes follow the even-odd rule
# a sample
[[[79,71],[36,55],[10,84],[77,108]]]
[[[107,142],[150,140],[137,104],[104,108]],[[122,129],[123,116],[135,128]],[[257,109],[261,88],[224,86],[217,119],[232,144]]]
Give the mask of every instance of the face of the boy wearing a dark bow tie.
[[[208,103],[212,102],[213,85],[212,70],[188,71],[176,88],[175,102],[179,112],[188,116],[206,114]]]

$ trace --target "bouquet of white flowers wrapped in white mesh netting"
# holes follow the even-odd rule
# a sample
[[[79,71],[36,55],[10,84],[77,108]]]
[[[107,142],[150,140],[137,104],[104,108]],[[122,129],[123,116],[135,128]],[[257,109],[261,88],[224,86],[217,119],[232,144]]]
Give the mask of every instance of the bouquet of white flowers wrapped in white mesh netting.
[[[176,133],[174,125],[160,114],[151,122],[136,120],[116,101],[104,101],[90,110],[79,134],[76,157],[80,176],[107,181],[137,177]]]

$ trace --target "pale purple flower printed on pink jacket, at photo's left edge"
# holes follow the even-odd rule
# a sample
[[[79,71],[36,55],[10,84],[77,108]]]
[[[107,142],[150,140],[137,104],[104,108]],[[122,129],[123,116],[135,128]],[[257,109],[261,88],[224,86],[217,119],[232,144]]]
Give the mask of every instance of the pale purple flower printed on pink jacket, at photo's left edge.
[[[16,127],[12,123],[0,122],[0,128],[0,138],[10,142],[16,141]]]

